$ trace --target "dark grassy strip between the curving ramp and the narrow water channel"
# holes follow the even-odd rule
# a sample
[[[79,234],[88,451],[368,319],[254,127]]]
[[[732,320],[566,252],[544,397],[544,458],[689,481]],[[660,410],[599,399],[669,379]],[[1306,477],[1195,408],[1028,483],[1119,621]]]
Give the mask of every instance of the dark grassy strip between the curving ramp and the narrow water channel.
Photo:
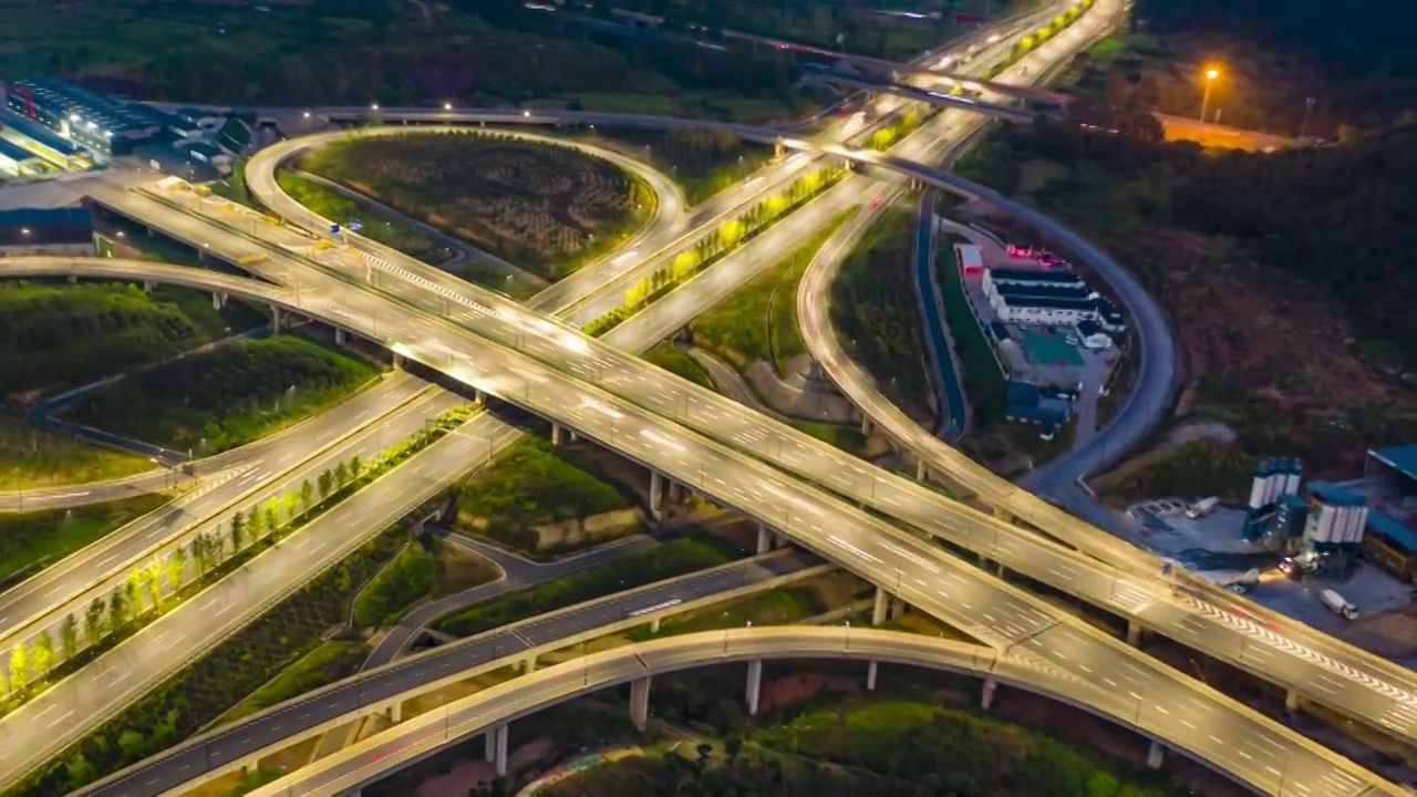
[[[915,301],[915,214],[890,210],[862,237],[832,285],[832,323],[877,389],[915,418],[930,418],[930,367]]]

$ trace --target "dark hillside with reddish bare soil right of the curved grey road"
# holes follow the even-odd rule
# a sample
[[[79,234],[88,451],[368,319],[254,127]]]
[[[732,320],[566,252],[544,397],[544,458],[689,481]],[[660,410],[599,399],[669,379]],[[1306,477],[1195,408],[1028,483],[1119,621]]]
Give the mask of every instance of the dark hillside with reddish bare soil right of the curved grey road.
[[[1176,417],[1348,472],[1417,434],[1417,125],[1270,155],[1002,128],[959,172],[1107,247],[1168,309]],[[1213,472],[1231,468],[1213,468]],[[1214,492],[1220,492],[1219,489]]]

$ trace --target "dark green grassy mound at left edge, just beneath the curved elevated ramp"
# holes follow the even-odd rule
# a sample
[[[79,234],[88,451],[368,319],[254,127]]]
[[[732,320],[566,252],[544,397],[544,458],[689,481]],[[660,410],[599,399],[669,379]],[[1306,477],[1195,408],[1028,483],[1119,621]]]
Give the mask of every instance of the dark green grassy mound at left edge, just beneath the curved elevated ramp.
[[[0,284],[0,393],[79,386],[208,343],[258,316],[180,288]]]

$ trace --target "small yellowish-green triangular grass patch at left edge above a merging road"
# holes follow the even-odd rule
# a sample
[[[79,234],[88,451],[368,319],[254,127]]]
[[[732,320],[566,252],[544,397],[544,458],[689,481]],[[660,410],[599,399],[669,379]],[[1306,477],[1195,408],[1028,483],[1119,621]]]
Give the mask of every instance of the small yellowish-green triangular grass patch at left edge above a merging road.
[[[147,457],[0,416],[0,491],[116,479],[152,467]]]

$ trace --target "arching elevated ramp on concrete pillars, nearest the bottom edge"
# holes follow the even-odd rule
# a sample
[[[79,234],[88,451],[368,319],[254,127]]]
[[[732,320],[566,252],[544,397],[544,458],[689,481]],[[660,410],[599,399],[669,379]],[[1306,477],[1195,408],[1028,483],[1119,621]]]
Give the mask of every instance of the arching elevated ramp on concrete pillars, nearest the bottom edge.
[[[544,708],[609,686],[632,684],[631,716],[643,725],[650,682],[656,676],[704,665],[747,662],[747,702],[755,713],[762,662],[768,659],[830,658],[835,661],[879,662],[920,667],[973,675],[985,679],[985,705],[999,685],[1034,692],[1080,708],[1136,730],[1166,747],[1183,752],[1206,766],[1261,794],[1397,796],[1399,787],[1376,777],[1355,784],[1335,779],[1326,763],[1291,760],[1282,770],[1285,786],[1275,786],[1267,764],[1255,763],[1246,750],[1257,745],[1282,743],[1284,729],[1268,722],[1240,725],[1178,723],[1168,695],[1128,695],[1081,682],[1047,661],[1000,654],[981,645],[876,630],[832,628],[747,628],[687,634],[652,642],[612,648],[547,667],[490,686],[472,696],[411,718],[333,756],[320,759],[281,780],[252,791],[261,797],[323,797],[357,793],[388,773],[414,764],[478,733],[489,737],[489,759],[506,770],[507,723]],[[514,664],[514,657],[489,661],[449,676],[469,678]],[[442,684],[439,684],[442,685]],[[346,686],[347,689],[347,686]],[[394,699],[402,702],[427,686]],[[281,710],[285,706],[271,709]],[[359,709],[361,712],[367,709]],[[346,715],[354,719],[357,713]],[[1153,760],[1159,762],[1159,747]]]

